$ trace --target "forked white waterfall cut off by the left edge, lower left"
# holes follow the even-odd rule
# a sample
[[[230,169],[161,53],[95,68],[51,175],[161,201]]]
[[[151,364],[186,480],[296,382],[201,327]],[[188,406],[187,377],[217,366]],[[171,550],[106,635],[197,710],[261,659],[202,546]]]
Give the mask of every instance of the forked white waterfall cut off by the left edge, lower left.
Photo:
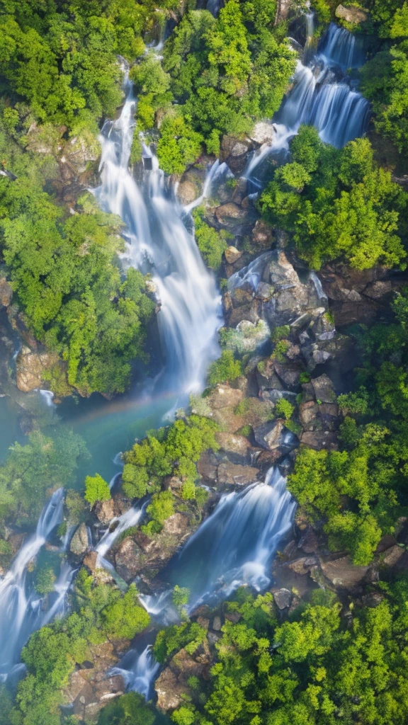
[[[30,634],[64,613],[65,594],[73,576],[68,564],[62,564],[54,592],[46,599],[26,581],[28,564],[62,521],[63,494],[63,489],[52,494],[38,520],[36,533],[23,544],[0,581],[0,679],[3,681],[20,669],[20,652]]]

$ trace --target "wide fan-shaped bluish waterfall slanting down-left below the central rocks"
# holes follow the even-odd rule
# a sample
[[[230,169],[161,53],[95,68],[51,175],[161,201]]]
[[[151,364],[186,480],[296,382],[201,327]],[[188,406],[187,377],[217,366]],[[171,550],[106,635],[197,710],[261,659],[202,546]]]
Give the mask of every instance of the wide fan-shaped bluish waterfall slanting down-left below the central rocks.
[[[269,469],[264,484],[224,494],[219,504],[161,573],[190,590],[189,610],[215,604],[241,584],[265,589],[280,540],[290,529],[295,501],[286,479]],[[168,597],[162,597],[163,607]],[[150,610],[154,604],[149,602]]]

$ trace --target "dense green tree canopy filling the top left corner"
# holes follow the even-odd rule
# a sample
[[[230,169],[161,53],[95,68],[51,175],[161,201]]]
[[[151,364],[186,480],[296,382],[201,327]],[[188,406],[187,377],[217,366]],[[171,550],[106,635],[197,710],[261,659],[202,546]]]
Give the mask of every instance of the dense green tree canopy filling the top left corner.
[[[95,128],[123,97],[118,54],[129,61],[142,54],[142,33],[163,24],[176,3],[159,5],[158,12],[150,0],[2,0],[1,94],[26,101],[43,123],[73,133]]]

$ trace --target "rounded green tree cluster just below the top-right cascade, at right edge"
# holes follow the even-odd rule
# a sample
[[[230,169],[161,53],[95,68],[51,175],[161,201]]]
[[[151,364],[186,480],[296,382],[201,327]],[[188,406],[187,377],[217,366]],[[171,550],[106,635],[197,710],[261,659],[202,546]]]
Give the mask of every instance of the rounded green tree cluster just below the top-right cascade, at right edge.
[[[370,141],[334,149],[303,126],[290,151],[259,207],[266,220],[293,233],[299,255],[314,269],[338,258],[357,269],[404,267],[408,197],[376,164]]]

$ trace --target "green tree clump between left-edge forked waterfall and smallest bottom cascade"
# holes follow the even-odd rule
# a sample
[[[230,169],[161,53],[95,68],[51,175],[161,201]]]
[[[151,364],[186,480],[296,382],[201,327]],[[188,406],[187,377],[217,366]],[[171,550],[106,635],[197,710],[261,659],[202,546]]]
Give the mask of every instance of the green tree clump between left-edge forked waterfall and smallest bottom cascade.
[[[134,584],[121,595],[111,585],[94,584],[85,569],[76,579],[73,608],[68,618],[43,627],[24,647],[22,658],[28,674],[18,686],[10,724],[60,725],[61,689],[76,666],[93,661],[92,645],[107,637],[131,639],[150,619],[139,605]]]

